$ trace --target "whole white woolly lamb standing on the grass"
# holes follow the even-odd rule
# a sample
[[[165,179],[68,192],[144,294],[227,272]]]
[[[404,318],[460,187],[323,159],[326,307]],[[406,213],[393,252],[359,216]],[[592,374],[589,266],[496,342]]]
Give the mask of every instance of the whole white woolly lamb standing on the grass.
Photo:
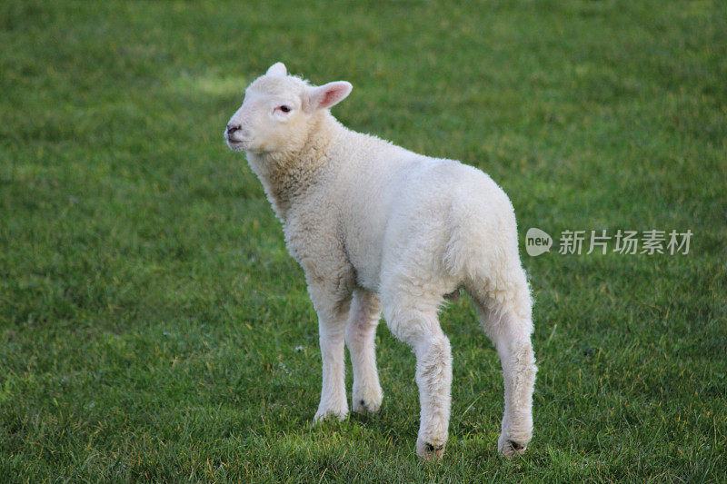
[[[245,152],[283,223],[318,315],[323,388],[314,422],[344,420],[344,342],[354,371],[353,410],[381,407],[374,335],[389,329],[416,356],[421,404],[416,453],[442,459],[452,353],[437,312],[467,291],[503,366],[497,448],[523,454],[533,435],[532,299],[513,205],[485,173],[355,133],[329,108],[351,93],[314,86],[272,65],[245,90],[224,130]]]

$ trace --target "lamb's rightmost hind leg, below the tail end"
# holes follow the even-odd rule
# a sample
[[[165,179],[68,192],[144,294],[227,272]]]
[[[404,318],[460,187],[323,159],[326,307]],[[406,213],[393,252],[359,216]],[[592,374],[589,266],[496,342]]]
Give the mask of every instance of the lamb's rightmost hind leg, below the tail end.
[[[533,438],[533,387],[537,371],[530,338],[530,290],[524,272],[514,273],[515,283],[510,291],[471,291],[483,329],[503,365],[505,409],[497,449],[508,458],[523,454]]]

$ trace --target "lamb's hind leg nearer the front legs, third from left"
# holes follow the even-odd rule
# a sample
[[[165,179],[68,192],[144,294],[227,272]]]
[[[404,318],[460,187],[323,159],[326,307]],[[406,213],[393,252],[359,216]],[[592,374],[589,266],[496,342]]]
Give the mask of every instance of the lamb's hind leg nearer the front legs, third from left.
[[[451,406],[452,351],[437,320],[438,302],[392,295],[383,298],[386,323],[416,355],[421,406],[416,453],[429,460],[442,459]]]

